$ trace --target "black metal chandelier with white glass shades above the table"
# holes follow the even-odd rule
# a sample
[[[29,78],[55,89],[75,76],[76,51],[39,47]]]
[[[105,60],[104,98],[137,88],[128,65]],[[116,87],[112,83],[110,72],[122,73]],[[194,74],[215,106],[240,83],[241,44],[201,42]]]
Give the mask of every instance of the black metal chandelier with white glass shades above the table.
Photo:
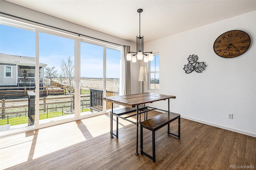
[[[142,9],[138,9],[137,12],[142,13]],[[126,55],[127,61],[132,61],[132,63],[136,63],[137,59],[142,60],[144,56],[144,62],[148,63],[148,61],[154,60],[154,54],[152,52],[144,52],[143,51],[143,36],[137,36],[137,52],[128,51]]]

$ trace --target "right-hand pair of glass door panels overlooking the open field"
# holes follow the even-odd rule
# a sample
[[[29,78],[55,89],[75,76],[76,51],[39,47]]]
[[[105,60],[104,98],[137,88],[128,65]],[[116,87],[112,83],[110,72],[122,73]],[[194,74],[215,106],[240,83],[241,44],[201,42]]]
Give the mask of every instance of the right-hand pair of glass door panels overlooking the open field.
[[[81,116],[110,109],[102,97],[119,95],[119,80],[120,48],[80,43]]]

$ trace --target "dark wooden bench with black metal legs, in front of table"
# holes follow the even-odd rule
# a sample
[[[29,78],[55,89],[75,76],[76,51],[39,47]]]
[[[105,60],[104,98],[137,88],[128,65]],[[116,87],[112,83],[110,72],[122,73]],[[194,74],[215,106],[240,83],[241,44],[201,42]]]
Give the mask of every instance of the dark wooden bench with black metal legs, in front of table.
[[[176,119],[178,119],[178,135],[170,133],[170,123]],[[180,139],[180,114],[166,112],[140,123],[140,154],[148,156],[153,160],[153,162],[156,162],[155,131],[164,127],[165,125],[168,125],[168,134],[177,136]],[[152,156],[143,152],[143,128],[152,131]]]

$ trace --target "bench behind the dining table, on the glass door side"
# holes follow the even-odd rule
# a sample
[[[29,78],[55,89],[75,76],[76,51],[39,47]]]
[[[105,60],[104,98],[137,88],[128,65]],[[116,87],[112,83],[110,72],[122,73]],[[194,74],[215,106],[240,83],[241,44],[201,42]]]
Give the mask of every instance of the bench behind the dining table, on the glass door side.
[[[144,111],[144,110],[147,110],[147,107],[144,106],[144,105],[139,105],[139,111]],[[128,113],[133,113],[133,112],[136,112],[137,111],[137,107],[125,107],[125,108],[121,108],[121,109],[114,109],[113,110],[113,115],[116,116],[116,134],[112,133],[114,136],[116,136],[116,138],[118,138],[118,117],[122,116],[122,115],[126,115]],[[110,115],[111,115],[112,111],[110,111]],[[139,113],[140,114],[140,113]],[[136,115],[136,114],[135,114]],[[132,117],[132,116],[135,116],[135,115],[130,115],[128,117]],[[128,118],[128,117],[125,117],[125,118]],[[147,114],[146,114],[146,117],[147,117]],[[122,119],[124,119],[123,117],[120,117]],[[112,119],[111,121],[113,122],[113,116],[111,116]],[[124,119],[124,120],[127,120],[127,119]],[[144,114],[144,121],[145,121],[145,114]],[[112,126],[113,124],[110,123],[110,126]],[[113,127],[110,127],[111,129],[113,129]]]

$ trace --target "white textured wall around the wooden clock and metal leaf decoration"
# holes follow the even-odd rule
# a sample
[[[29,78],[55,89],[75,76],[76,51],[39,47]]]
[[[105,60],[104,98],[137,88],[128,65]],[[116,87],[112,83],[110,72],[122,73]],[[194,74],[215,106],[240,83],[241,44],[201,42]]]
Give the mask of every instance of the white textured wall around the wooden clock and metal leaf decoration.
[[[251,38],[250,47],[238,57],[219,57],[213,51],[213,43],[230,30],[247,32]],[[176,96],[176,99],[170,99],[170,111],[180,113],[186,119],[256,137],[255,40],[256,11],[144,46],[145,51],[160,52],[159,93]],[[207,65],[202,73],[187,74],[183,70],[192,54]],[[153,105],[167,109],[166,101]],[[233,114],[233,119],[228,119],[228,113]]]

